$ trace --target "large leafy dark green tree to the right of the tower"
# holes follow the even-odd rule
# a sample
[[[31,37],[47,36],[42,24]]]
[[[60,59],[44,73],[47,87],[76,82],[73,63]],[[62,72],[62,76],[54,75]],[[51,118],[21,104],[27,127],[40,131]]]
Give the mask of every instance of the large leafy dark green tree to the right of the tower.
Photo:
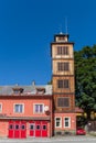
[[[90,112],[96,111],[96,45],[75,51],[74,58],[76,106],[90,120]]]

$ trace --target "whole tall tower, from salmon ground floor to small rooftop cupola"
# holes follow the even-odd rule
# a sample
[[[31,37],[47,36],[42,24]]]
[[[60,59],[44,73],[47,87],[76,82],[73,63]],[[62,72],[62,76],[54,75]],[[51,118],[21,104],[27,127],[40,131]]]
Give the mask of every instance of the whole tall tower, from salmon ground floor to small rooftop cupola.
[[[73,46],[63,33],[51,43],[54,134],[76,130]]]

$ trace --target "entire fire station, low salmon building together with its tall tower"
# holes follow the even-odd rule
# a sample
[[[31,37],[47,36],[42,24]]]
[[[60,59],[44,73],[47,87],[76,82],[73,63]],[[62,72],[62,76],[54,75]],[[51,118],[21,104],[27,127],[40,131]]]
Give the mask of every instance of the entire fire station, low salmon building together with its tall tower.
[[[0,86],[0,136],[51,138],[75,132],[73,45],[67,34],[54,36],[52,85]]]

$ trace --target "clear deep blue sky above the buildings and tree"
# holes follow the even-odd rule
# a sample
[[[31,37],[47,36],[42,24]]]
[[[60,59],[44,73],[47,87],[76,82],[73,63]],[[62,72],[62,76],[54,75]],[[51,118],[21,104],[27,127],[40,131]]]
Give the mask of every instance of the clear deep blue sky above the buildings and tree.
[[[0,85],[47,84],[65,19],[74,50],[96,44],[96,0],[0,0]]]

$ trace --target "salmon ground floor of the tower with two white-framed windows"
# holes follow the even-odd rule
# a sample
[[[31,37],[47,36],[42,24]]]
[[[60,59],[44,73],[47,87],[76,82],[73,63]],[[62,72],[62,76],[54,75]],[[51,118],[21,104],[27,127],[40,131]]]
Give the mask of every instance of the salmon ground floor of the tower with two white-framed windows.
[[[54,135],[76,134],[76,113],[54,113]]]

